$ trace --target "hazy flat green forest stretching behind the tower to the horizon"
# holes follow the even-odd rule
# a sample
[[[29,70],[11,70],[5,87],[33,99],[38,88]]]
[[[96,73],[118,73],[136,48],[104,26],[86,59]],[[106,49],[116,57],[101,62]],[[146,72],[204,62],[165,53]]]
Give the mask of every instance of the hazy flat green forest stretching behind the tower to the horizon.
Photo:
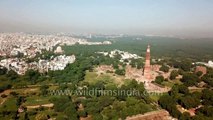
[[[91,41],[109,40],[112,45],[74,45],[64,46],[67,54],[91,54],[97,51],[114,49],[145,56],[146,47],[151,45],[152,57],[193,58],[199,61],[213,59],[213,41],[211,39],[180,39],[173,37],[126,36],[118,38],[91,38]]]

